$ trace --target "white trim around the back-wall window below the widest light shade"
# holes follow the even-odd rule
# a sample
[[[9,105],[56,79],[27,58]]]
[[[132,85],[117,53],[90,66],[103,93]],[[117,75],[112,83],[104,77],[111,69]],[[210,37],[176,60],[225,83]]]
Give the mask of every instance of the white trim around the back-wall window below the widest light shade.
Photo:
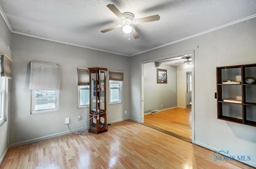
[[[34,89],[34,90],[44,90],[44,89]],[[30,114],[38,114],[38,113],[45,113],[45,112],[54,112],[58,111],[59,108],[59,90],[55,90],[55,97],[56,97],[56,108],[55,109],[47,109],[47,110],[35,110],[34,107],[34,90],[31,90],[31,113]],[[54,89],[51,89],[54,90]]]

